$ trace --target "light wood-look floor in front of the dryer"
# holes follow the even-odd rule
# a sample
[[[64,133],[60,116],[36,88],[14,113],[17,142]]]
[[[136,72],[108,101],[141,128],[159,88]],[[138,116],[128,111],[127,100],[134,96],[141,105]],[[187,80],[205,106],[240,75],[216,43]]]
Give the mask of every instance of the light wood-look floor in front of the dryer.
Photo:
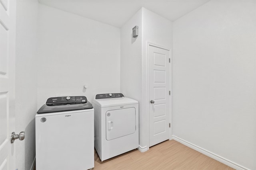
[[[94,170],[233,170],[177,141],[165,141],[144,153],[131,150],[101,162],[94,156]]]

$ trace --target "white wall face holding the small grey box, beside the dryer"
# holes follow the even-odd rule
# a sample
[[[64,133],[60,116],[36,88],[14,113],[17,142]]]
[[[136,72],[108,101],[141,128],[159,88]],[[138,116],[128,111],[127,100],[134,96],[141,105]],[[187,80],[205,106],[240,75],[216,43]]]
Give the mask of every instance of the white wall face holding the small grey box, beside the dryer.
[[[132,28],[139,27],[138,37],[132,37]],[[124,96],[139,102],[139,115],[142,111],[142,9],[121,27],[120,89]],[[142,119],[142,117],[140,117]],[[139,128],[141,124],[139,123]],[[142,132],[139,130],[139,141]]]

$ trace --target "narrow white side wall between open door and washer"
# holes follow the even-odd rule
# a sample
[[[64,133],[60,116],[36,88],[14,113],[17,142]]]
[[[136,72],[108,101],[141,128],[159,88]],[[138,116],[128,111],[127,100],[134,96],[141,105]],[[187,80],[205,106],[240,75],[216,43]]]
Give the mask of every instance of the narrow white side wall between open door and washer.
[[[38,1],[17,1],[16,12],[16,134],[25,131],[23,141],[15,141],[16,168],[29,170],[35,158],[37,111],[37,14]]]

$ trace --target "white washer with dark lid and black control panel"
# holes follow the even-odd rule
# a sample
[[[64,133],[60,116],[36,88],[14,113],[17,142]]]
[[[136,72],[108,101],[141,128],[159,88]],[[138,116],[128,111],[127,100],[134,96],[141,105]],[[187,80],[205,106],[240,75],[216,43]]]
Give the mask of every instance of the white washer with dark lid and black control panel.
[[[94,167],[94,109],[85,96],[49,98],[36,114],[36,170]]]

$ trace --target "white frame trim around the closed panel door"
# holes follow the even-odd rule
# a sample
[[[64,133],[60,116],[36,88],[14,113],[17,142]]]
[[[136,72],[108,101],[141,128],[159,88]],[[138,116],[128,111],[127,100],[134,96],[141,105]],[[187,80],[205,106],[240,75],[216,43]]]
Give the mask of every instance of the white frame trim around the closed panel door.
[[[147,41],[147,45],[146,45],[146,113],[147,114],[147,120],[148,120],[148,143],[147,143],[147,150],[149,150],[149,134],[150,134],[150,123],[149,123],[149,107],[150,107],[150,104],[149,104],[149,46],[152,46],[152,47],[157,47],[157,48],[160,48],[160,49],[164,49],[164,50],[168,50],[169,53],[170,53],[170,68],[169,68],[169,71],[170,71],[170,82],[169,82],[169,86],[170,86],[170,91],[171,91],[171,95],[169,96],[170,97],[170,123],[171,123],[171,127],[170,127],[170,136],[169,136],[169,140],[172,140],[172,49],[169,49],[169,48],[166,48],[164,47],[163,45],[159,45],[159,44],[156,44],[156,43],[152,43],[150,41]]]

